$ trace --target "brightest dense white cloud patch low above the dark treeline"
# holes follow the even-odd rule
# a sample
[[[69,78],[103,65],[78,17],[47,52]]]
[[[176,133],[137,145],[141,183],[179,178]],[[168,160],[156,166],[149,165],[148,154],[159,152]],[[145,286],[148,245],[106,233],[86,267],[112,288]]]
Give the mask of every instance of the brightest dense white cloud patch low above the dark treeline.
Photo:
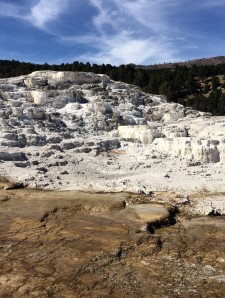
[[[84,41],[84,40],[83,40]],[[88,40],[86,40],[88,42]],[[174,61],[175,50],[163,37],[132,38],[126,31],[105,40],[95,40],[96,52],[73,57],[73,60],[89,61],[91,63],[145,64],[152,59],[155,63]]]

